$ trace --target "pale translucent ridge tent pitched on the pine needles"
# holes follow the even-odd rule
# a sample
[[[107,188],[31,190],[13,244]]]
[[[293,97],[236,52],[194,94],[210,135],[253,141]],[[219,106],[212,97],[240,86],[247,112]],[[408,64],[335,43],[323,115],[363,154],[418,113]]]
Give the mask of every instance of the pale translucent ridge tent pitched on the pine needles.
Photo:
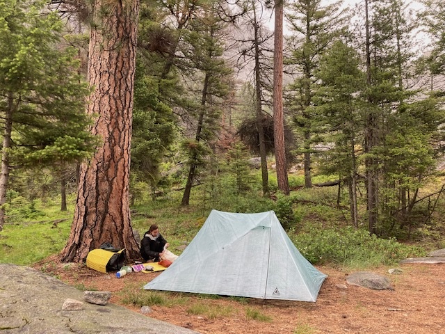
[[[275,212],[212,210],[184,252],[144,289],[316,301],[326,277],[300,254]]]

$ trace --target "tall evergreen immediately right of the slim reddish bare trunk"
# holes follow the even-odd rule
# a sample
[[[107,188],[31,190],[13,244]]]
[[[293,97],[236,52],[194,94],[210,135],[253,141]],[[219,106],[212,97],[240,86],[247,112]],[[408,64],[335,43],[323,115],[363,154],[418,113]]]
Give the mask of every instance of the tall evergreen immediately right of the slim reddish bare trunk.
[[[341,1],[323,6],[321,0],[298,0],[289,6],[289,23],[293,35],[290,39],[293,46],[289,64],[295,65],[300,76],[289,89],[291,109],[298,132],[302,134],[305,168],[305,186],[312,186],[311,154],[315,135],[320,133],[316,123],[313,96],[316,93],[314,72],[320,57],[332,41],[340,35],[344,15],[340,10]]]

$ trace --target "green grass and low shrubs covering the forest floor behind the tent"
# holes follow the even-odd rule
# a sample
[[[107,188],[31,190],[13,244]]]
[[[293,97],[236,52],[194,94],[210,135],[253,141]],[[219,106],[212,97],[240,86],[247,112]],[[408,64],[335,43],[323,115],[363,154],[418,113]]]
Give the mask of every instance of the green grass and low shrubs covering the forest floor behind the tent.
[[[272,189],[273,180],[271,177]],[[292,175],[291,180],[294,186],[304,182],[302,176],[296,175]],[[319,181],[324,182],[325,178]],[[378,238],[370,236],[364,228],[351,228],[348,209],[337,205],[336,187],[298,189],[292,191],[291,196],[275,193],[270,199],[262,196],[257,181],[240,187],[221,175],[212,182],[213,186],[193,187],[187,207],[179,205],[182,192],[172,189],[156,200],[150,196],[139,198],[131,207],[133,230],[142,237],[149,225],[158,224],[170,247],[180,254],[181,246],[191,242],[211,209],[228,212],[274,210],[309,262],[354,268],[394,264],[404,257],[425,255],[426,250],[441,246],[441,240],[444,245],[440,237],[444,229],[439,212],[441,202],[431,223],[413,228],[411,235],[416,236],[416,242],[411,244],[415,246],[408,246],[394,237]],[[60,252],[70,234],[74,205],[74,193],[68,198],[66,212],[60,212],[58,197],[29,201],[17,193],[10,196],[7,223],[0,232],[0,262],[31,265]]]

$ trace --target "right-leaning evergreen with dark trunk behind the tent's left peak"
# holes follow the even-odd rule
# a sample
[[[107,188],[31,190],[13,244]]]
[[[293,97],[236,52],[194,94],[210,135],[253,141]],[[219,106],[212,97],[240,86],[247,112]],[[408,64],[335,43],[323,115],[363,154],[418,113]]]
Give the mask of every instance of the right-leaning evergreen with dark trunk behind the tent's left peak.
[[[198,175],[198,168],[204,163],[210,141],[216,135],[220,111],[232,82],[232,72],[222,57],[226,24],[216,15],[217,8],[218,3],[213,3],[200,19],[195,19],[193,32],[188,35],[188,42],[193,49],[186,57],[199,70],[191,79],[198,79],[194,86],[199,87],[197,92],[200,102],[194,114],[194,139],[184,143],[188,151],[189,170],[181,205],[189,204],[193,182]]]

